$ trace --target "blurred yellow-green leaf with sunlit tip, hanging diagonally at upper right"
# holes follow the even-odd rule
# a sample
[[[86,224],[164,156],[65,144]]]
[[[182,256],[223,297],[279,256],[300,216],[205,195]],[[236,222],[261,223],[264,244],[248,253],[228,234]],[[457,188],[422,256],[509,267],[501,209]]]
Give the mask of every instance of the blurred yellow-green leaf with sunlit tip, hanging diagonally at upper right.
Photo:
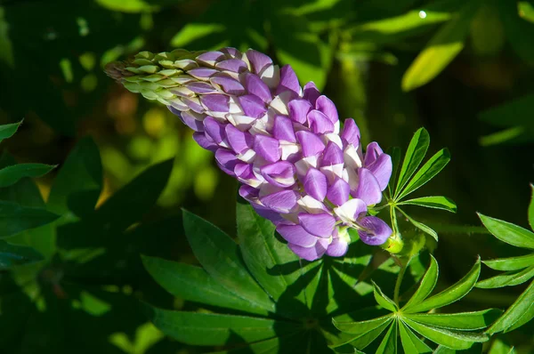
[[[402,77],[402,90],[411,91],[431,81],[464,49],[478,1],[467,2],[453,20],[443,25]]]

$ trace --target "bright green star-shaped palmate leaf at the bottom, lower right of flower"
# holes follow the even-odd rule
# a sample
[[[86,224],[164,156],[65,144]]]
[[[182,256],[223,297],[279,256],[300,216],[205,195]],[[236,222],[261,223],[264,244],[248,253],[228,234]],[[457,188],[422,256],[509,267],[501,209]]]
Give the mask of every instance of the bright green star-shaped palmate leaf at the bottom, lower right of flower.
[[[399,310],[399,305],[392,302],[379,286],[375,285],[376,302],[384,309],[391,311],[390,315],[365,321],[347,322],[334,319],[334,325],[347,337],[344,341],[336,342],[334,347],[349,343],[357,350],[364,350],[371,342],[384,333],[386,334],[378,352],[397,352],[398,337],[404,352],[429,353],[432,349],[422,342],[416,334],[420,334],[432,342],[446,346],[453,350],[465,350],[476,342],[486,342],[488,335],[473,332],[490,326],[500,315],[499,310],[481,310],[453,314],[425,313],[436,310],[452,302],[457,302],[473,288],[481,270],[478,260],[472,270],[455,285],[433,296],[433,288],[438,278],[437,261],[431,255],[430,265],[420,285],[410,300]],[[394,338],[392,335],[394,334]],[[351,336],[352,335],[352,336]],[[394,343],[393,343],[394,342]]]

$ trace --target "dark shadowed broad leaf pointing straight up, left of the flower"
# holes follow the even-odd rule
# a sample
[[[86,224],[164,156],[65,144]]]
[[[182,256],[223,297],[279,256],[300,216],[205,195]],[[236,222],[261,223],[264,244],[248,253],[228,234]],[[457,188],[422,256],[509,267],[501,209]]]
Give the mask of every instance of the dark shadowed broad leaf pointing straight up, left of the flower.
[[[53,181],[48,207],[54,213],[68,213],[69,196],[85,190],[96,190],[91,208],[102,188],[102,166],[98,147],[93,139],[87,137],[77,143]]]

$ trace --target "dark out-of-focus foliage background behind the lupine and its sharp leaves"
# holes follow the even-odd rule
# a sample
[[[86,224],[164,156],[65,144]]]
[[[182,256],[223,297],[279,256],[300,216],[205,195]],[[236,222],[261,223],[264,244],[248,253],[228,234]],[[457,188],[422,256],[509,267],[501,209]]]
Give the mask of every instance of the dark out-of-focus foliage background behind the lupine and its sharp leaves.
[[[25,178],[12,192],[2,189],[1,199],[13,200],[16,191],[20,205],[46,202],[50,212],[68,215],[0,245],[32,245],[44,256],[0,273],[3,349],[61,352],[68,350],[59,347],[66,343],[61,338],[76,345],[91,332],[98,352],[181,350],[175,342],[155,343],[162,334],[132,310],[137,294],[154,305],[175,305],[164,292],[150,294],[158,287],[139,253],[193,261],[178,205],[236,234],[236,183],[164,107],[138,101],[103,74],[107,62],[141,49],[231,45],[267,52],[290,63],[302,83],[315,81],[340,117],[354,117],[364,143],[406,146],[424,125],[435,146],[449,147],[452,156],[427,190],[454,199],[457,215],[414,208],[416,220],[441,236],[435,256],[444,284],[465,274],[477,253],[517,255],[465,226],[480,225],[478,210],[526,226],[534,176],[533,9],[530,0],[0,0],[0,124],[25,118],[2,148],[22,163],[61,167],[36,184]],[[96,174],[103,177],[87,179],[97,155]],[[73,156],[85,163],[73,166]],[[171,157],[174,163],[164,162]],[[142,171],[162,162],[146,173],[167,169],[168,183],[140,185]],[[65,176],[66,168],[77,172]],[[61,190],[66,186],[72,190]],[[128,215],[137,196],[150,203]],[[475,290],[466,302],[505,309],[522,290]],[[512,345],[530,352],[532,329],[499,335],[491,352]],[[21,341],[27,347],[15,349]]]

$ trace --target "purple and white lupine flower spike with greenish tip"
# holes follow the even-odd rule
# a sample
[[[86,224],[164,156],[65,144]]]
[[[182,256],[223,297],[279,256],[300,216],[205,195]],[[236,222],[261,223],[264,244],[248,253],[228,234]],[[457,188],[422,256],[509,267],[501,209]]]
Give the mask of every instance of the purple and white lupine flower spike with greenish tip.
[[[391,157],[376,142],[364,154],[354,121],[340,129],[334,103],[312,82],[301,87],[289,65],[223,48],[141,52],[107,72],[190,126],[223,172],[242,183],[240,196],[299,257],[344,255],[348,228],[368,245],[391,236],[384,221],[367,215],[382,200]]]

